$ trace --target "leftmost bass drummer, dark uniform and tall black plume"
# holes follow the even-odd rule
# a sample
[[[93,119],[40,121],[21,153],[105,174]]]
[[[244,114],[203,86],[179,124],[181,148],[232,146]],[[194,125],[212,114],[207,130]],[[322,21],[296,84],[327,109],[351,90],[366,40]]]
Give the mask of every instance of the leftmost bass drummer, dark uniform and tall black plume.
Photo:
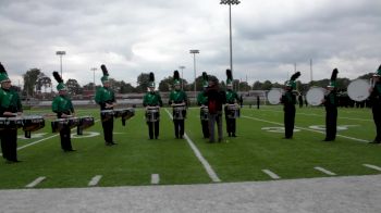
[[[299,76],[300,72],[296,72],[291,76],[291,79],[286,83],[286,91],[281,97],[284,111],[285,139],[292,139],[294,134],[296,95],[293,92],[293,90],[296,89],[295,80]]]

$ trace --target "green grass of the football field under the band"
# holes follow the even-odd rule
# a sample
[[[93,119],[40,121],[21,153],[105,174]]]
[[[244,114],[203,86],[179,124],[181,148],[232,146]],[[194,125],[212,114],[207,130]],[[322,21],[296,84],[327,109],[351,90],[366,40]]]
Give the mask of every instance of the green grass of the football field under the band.
[[[99,120],[99,110],[82,109],[77,115],[93,115]],[[208,143],[201,137],[198,115],[197,109],[188,110],[186,134],[223,183],[270,180],[262,172],[265,168],[288,179],[328,176],[314,170],[315,166],[324,167],[337,176],[380,173],[362,164],[381,166],[381,146],[340,136],[334,142],[323,142],[324,134],[310,130],[310,126],[324,125],[325,112],[322,108],[297,109],[296,126],[302,129],[294,134],[292,140],[282,139],[283,133],[262,130],[265,127],[282,126],[281,106],[244,108],[242,117],[237,120],[238,137],[228,138],[225,135],[222,143]],[[339,135],[368,141],[374,137],[369,109],[340,109],[337,123],[339,126],[347,126]],[[225,129],[225,124],[223,126]],[[62,152],[59,137],[52,137],[54,134],[51,134],[50,121],[47,120],[46,127],[37,131],[45,133],[44,137],[19,139],[17,142],[19,147],[23,147],[51,138],[20,150],[22,163],[0,162],[0,189],[24,188],[39,176],[47,179],[37,188],[87,187],[96,175],[102,175],[101,187],[150,185],[151,174],[160,175],[161,185],[212,183],[186,140],[174,138],[173,124],[164,109],[161,110],[159,140],[148,139],[142,109],[127,121],[126,126],[115,120],[116,146],[105,146],[99,122],[86,131],[100,135],[73,138],[72,143],[77,151]],[[19,130],[19,134],[23,131]]]

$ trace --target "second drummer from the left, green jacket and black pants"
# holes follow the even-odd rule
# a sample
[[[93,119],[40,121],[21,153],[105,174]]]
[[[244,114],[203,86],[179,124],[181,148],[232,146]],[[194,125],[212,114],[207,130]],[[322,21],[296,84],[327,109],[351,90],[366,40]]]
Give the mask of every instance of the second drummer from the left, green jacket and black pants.
[[[66,87],[58,72],[53,72],[53,76],[58,82],[57,90],[59,96],[53,99],[51,109],[54,113],[57,113],[57,118],[71,117],[73,116],[72,114],[74,113],[74,108],[71,99],[67,97]],[[60,138],[61,148],[64,152],[75,151],[72,148],[71,129],[69,125],[63,126],[63,128],[60,130]]]

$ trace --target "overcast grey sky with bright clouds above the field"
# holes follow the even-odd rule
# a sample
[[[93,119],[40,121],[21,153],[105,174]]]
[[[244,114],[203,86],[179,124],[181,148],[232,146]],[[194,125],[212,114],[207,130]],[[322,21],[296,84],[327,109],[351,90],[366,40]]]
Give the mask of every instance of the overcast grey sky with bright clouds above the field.
[[[186,66],[225,80],[230,66],[229,5],[220,0],[0,0],[0,61],[11,79],[40,68],[63,78],[93,82],[91,67],[136,86],[140,73],[157,82]],[[304,83],[355,78],[381,63],[380,0],[242,0],[232,5],[233,77],[283,83],[302,72]],[[179,70],[181,71],[181,70]]]

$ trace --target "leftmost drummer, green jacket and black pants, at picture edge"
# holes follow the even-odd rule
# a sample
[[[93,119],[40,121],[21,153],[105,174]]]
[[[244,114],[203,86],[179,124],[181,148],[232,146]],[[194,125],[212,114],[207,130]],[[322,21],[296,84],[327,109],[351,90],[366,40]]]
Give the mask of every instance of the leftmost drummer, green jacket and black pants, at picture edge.
[[[0,117],[21,115],[23,106],[19,93],[12,89],[4,66],[0,63]],[[17,128],[0,129],[1,152],[7,163],[17,163]]]

